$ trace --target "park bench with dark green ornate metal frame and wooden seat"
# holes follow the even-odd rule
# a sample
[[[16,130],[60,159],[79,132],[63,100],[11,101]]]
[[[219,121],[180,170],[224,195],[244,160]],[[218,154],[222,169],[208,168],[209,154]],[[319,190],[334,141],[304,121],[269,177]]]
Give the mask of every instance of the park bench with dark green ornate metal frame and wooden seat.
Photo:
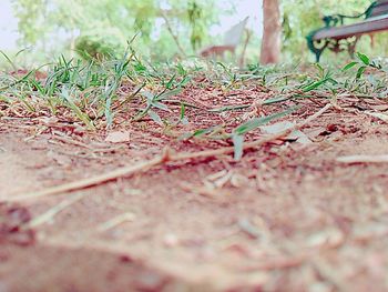
[[[347,24],[347,19],[360,21]],[[306,38],[308,49],[315,53],[317,62],[326,49],[336,53],[347,50],[353,58],[363,34],[388,30],[388,0],[372,2],[358,16],[333,14],[324,17],[323,21],[325,27],[312,31]]]

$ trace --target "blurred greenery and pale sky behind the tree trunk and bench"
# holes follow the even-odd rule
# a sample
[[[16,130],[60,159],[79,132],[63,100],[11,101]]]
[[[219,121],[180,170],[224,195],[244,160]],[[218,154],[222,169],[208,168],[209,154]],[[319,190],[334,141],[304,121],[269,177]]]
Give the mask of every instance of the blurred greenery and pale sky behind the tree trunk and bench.
[[[314,61],[305,37],[323,26],[321,17],[357,14],[371,2],[280,0],[282,61]],[[222,43],[225,32],[246,17],[237,56],[244,50],[245,63],[257,63],[263,36],[262,0],[0,0],[0,50],[10,57],[23,50],[18,62],[28,66],[61,54],[83,59],[120,56],[133,40],[132,47],[142,57],[166,61],[198,56],[203,48]],[[387,37],[386,32],[376,34],[371,46],[365,36],[357,49],[371,57],[385,57]],[[330,53],[323,59],[331,60]]]

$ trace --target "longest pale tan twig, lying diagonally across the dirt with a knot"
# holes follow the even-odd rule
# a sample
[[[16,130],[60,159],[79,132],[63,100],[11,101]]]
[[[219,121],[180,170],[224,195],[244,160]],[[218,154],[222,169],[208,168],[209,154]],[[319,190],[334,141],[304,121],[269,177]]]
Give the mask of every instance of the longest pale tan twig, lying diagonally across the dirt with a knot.
[[[323,109],[320,109],[318,112],[310,115],[309,118],[307,118],[305,121],[303,121],[299,124],[296,124],[296,125],[294,125],[285,131],[282,131],[279,133],[270,134],[270,135],[265,137],[263,139],[259,139],[259,140],[256,140],[256,141],[249,142],[249,143],[245,143],[244,150],[253,149],[253,148],[266,144],[268,142],[272,142],[274,140],[278,140],[283,137],[286,137],[289,133],[294,132],[295,130],[299,130],[299,129],[306,127],[313,120],[317,119],[319,115],[321,115],[324,112],[326,112],[329,108],[331,108],[330,103],[326,104]],[[39,192],[32,192],[32,193],[24,194],[24,195],[7,198],[7,199],[3,199],[3,201],[9,201],[9,202],[23,201],[23,200],[28,200],[28,199],[37,199],[40,197],[65,193],[65,192],[81,190],[81,189],[90,188],[90,187],[98,185],[101,183],[105,183],[108,181],[113,181],[113,180],[116,180],[118,178],[129,177],[135,172],[145,171],[145,170],[149,170],[151,168],[154,168],[156,165],[160,165],[160,164],[163,164],[163,163],[166,163],[170,161],[182,161],[182,160],[193,160],[193,159],[198,159],[198,158],[218,157],[218,155],[223,155],[223,154],[229,154],[233,152],[234,152],[234,147],[225,147],[225,148],[215,149],[215,150],[204,150],[204,151],[194,152],[194,153],[178,153],[178,154],[173,154],[170,149],[164,149],[162,155],[156,157],[156,158],[149,160],[149,161],[141,162],[141,163],[132,165],[132,167],[120,168],[120,169],[116,169],[116,170],[111,171],[111,172],[105,173],[105,174],[100,174],[100,175],[95,175],[95,177],[92,177],[89,179],[83,179],[83,180],[65,183],[65,184],[49,188],[49,189],[45,189],[45,190],[42,190]]]

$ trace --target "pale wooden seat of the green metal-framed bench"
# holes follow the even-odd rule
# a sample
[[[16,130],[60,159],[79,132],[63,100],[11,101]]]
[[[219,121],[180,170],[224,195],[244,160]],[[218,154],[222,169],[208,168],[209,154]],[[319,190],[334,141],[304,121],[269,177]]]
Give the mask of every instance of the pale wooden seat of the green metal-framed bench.
[[[323,29],[316,32],[313,37],[314,40],[321,39],[346,39],[353,36],[359,36],[367,32],[376,32],[388,29],[388,14],[381,17],[369,18],[363,22],[357,22],[355,24],[343,26]]]

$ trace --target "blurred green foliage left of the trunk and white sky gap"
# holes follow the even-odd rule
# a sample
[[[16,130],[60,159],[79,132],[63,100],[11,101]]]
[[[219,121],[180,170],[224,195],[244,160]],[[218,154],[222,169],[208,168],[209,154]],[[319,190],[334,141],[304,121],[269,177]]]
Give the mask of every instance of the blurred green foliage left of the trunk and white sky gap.
[[[207,38],[207,27],[223,13],[215,0],[12,0],[22,46],[45,52],[57,49],[82,58],[124,52],[139,34],[135,49],[144,57],[165,60],[178,53],[172,33],[186,54]],[[165,19],[171,23],[169,30]],[[59,47],[59,48],[58,48]]]

